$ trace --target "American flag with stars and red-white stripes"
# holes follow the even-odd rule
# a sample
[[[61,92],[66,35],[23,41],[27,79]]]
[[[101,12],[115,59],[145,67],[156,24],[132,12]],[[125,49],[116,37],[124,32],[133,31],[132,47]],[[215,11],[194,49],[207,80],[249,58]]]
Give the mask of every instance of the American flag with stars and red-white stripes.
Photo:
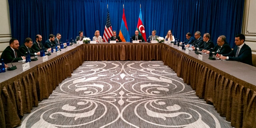
[[[103,42],[108,42],[108,38],[110,38],[111,36],[113,36],[113,32],[112,32],[112,25],[110,21],[109,12],[108,12],[107,21],[104,29],[104,35],[103,35]]]

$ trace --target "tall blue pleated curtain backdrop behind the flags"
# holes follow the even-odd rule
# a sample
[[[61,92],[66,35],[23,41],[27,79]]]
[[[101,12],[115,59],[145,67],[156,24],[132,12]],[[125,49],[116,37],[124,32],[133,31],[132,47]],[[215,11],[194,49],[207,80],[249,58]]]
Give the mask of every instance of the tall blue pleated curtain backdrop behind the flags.
[[[208,32],[215,42],[220,35],[233,47],[235,35],[241,32],[244,0],[8,0],[12,37],[20,44],[25,38],[35,40],[41,34],[43,43],[49,34],[62,35],[62,41],[75,38],[78,31],[86,37],[100,30],[103,36],[107,4],[113,30],[119,32],[123,4],[130,36],[134,35],[140,4],[146,36],[152,30],[166,36],[172,30],[184,41],[186,33]]]

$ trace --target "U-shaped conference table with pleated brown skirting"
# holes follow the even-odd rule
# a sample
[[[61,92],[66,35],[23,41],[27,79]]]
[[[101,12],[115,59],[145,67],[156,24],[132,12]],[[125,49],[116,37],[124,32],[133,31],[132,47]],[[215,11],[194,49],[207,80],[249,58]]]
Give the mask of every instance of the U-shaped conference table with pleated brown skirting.
[[[48,98],[84,61],[105,60],[163,61],[232,126],[255,127],[256,68],[236,61],[209,60],[204,54],[199,60],[198,56],[165,43],[103,42],[68,46],[58,56],[52,53],[44,62],[38,57],[25,71],[24,63],[13,63],[16,70],[0,73],[0,127],[19,125],[24,114],[38,106],[38,101]]]

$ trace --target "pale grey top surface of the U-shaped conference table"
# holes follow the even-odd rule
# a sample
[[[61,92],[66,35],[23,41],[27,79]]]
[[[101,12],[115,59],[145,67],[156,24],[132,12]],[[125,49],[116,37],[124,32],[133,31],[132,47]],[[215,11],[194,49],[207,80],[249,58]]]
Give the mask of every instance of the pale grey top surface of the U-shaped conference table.
[[[107,42],[101,42],[101,43],[97,43],[97,44],[85,44],[85,45],[99,45],[99,44],[113,45],[113,44],[109,44]],[[132,44],[132,43],[119,42],[117,44]],[[144,42],[144,43],[139,43],[139,44],[150,44],[150,43]],[[62,52],[60,52],[60,54],[66,52],[68,50],[71,50],[79,45],[81,45],[81,44],[74,44],[72,46],[68,46],[67,48],[62,49]],[[138,45],[138,44],[133,44],[133,45]],[[176,46],[176,45],[174,45],[173,48],[176,48],[178,50],[178,46]],[[181,50],[180,52],[185,53],[185,50]],[[47,52],[46,52],[46,54],[47,54]],[[57,56],[56,52],[51,53],[51,54],[52,55],[48,56],[48,60]],[[198,54],[195,54],[194,51],[189,51],[189,56],[192,56],[192,57],[198,59]],[[237,62],[237,61],[229,61],[229,60],[223,61],[223,60],[218,60],[218,59],[210,60],[210,59],[208,59],[208,55],[206,55],[206,54],[202,54],[202,56],[203,56],[202,62],[205,62],[211,66],[214,66],[215,68],[218,68],[219,70],[222,70],[223,72],[226,72],[227,74],[230,74],[236,78],[239,78],[245,82],[248,82],[248,83],[256,86],[256,67],[250,66],[248,64],[244,64],[241,62]],[[31,58],[34,58],[34,57],[31,57]],[[37,61],[30,62],[30,68],[32,68],[32,67],[38,65],[40,62],[42,62],[42,57],[38,56],[37,58],[38,58]],[[23,72],[22,64],[24,64],[24,62],[15,62],[12,64],[16,65],[17,69],[13,70],[13,71],[6,70],[5,73],[0,73],[0,78],[1,78],[0,83],[5,80],[8,80],[10,78],[13,78],[13,77],[17,76],[17,74],[21,74]],[[12,64],[8,63],[7,65],[9,67],[11,67]]]

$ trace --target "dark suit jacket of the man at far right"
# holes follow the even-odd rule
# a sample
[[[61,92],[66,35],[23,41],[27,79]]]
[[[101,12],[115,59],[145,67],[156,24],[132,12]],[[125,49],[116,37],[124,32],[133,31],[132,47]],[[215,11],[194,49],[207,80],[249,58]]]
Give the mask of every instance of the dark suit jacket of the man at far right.
[[[252,65],[252,50],[251,48],[244,44],[239,51],[238,57],[236,56],[237,46],[235,46],[234,50],[229,52],[228,54],[222,54],[223,56],[228,56],[228,60],[235,60],[245,64]]]

